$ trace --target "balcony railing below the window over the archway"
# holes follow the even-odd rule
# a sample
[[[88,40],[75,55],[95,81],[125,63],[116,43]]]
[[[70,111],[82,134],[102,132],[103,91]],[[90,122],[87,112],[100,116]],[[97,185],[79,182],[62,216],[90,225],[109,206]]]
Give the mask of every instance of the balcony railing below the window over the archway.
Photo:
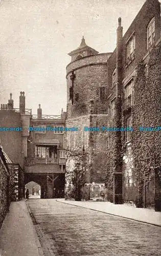
[[[58,163],[57,158],[26,158],[25,165]]]

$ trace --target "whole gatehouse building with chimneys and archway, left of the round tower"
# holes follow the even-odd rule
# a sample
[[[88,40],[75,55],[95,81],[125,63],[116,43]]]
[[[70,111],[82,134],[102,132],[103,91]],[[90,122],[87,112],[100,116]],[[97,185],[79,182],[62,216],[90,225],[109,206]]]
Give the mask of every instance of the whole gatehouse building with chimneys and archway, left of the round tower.
[[[64,127],[65,112],[62,110],[60,116],[42,115],[39,105],[37,115],[32,115],[31,109],[25,108],[24,92],[20,92],[19,109],[13,103],[10,94],[8,104],[1,104],[0,110],[0,139],[10,170],[10,200],[25,197],[25,184],[30,181],[41,186],[41,198],[63,197],[64,132],[47,131],[47,127]]]

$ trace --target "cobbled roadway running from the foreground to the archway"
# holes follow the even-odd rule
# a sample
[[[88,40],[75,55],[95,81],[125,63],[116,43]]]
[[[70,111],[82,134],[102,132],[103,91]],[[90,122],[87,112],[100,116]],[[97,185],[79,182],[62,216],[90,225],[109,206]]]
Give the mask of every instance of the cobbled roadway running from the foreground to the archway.
[[[160,227],[54,199],[27,204],[45,256],[161,255]]]

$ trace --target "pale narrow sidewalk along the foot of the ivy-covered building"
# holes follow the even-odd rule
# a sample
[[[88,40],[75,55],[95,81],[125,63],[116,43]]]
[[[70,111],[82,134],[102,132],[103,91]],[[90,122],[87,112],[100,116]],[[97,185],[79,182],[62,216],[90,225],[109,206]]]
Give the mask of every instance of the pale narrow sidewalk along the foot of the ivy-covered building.
[[[135,221],[161,226],[161,212],[155,211],[153,209],[136,208],[126,204],[113,204],[110,202],[70,201],[64,199],[57,199],[57,201],[91,210],[105,212],[106,214],[114,216],[120,216]]]

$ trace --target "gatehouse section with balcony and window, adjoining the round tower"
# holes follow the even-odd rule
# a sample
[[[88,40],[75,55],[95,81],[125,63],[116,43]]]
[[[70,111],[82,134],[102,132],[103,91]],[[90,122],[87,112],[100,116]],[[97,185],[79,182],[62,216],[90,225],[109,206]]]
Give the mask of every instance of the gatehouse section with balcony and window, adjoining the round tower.
[[[60,116],[42,115],[40,104],[37,115],[31,116],[25,184],[30,181],[38,183],[41,186],[41,198],[64,197],[65,134],[60,128],[64,127],[65,118],[63,110]],[[53,130],[48,131],[48,127]]]

